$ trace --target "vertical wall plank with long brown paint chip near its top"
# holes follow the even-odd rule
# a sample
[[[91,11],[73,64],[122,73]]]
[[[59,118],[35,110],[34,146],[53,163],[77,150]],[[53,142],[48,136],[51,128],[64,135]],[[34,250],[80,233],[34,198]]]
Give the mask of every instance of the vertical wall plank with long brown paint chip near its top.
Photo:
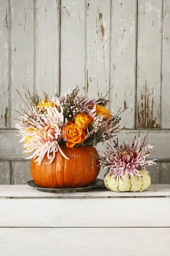
[[[87,1],[86,92],[92,96],[109,90],[110,0]]]

